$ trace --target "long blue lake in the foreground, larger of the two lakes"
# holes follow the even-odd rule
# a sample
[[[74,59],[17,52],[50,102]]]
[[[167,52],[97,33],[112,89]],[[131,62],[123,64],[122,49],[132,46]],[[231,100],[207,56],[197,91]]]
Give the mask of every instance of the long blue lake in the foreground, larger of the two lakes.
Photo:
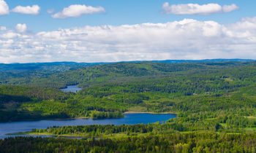
[[[7,133],[18,133],[32,130],[32,128],[47,128],[52,126],[67,125],[135,125],[148,124],[152,122],[163,122],[175,118],[176,114],[124,114],[122,118],[116,119],[62,119],[62,120],[39,120],[0,123],[0,138],[7,138]],[[49,137],[49,136],[42,136]]]

